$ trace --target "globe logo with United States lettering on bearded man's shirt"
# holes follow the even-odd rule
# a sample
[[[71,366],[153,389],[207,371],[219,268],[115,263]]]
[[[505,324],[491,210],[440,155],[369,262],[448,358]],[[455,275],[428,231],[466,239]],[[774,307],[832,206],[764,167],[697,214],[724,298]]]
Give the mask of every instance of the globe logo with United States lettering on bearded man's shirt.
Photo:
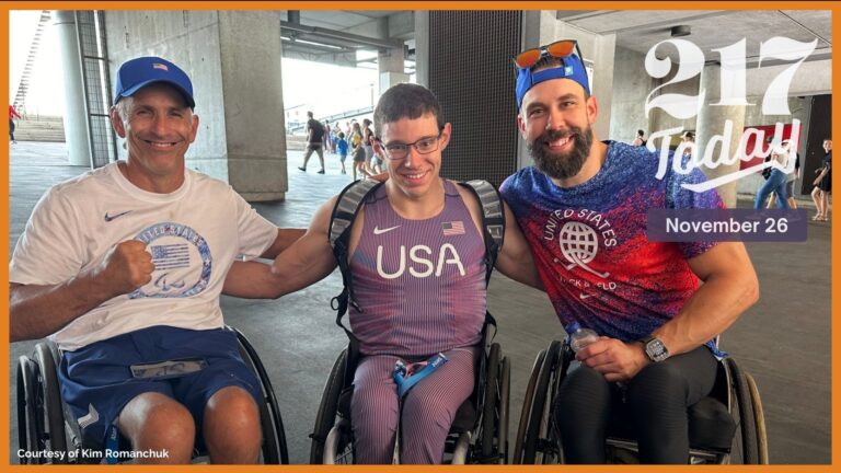
[[[600,212],[587,209],[558,209],[552,212],[543,228],[545,240],[557,242],[561,255],[555,263],[572,270],[579,267],[600,278],[610,276],[609,272],[599,272],[590,263],[599,253],[599,240],[604,246],[617,244],[612,226]]]

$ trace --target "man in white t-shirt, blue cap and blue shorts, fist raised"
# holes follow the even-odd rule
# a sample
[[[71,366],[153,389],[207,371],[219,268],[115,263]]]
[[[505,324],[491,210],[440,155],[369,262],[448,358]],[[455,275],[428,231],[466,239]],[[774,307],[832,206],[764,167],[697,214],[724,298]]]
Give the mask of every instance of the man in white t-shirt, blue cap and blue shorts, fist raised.
[[[87,441],[127,438],[140,462],[257,460],[260,384],[222,330],[219,295],[239,257],[274,257],[298,230],[260,217],[226,183],[185,168],[193,84],[174,64],[120,66],[117,161],[50,188],[9,264],[12,342],[49,336]]]

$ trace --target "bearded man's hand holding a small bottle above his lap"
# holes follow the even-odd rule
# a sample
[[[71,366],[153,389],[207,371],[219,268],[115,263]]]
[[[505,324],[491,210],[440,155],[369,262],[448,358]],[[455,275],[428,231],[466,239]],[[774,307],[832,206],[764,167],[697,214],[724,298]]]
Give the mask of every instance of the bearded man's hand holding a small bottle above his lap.
[[[629,381],[650,362],[642,344],[609,337],[600,337],[598,342],[587,345],[578,350],[575,358],[604,374],[604,379],[611,382]]]

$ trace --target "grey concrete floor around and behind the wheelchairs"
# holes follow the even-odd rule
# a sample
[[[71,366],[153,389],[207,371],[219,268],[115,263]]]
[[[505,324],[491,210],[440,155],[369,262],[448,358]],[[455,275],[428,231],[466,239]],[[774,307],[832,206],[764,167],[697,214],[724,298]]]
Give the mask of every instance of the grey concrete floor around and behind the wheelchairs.
[[[19,142],[11,149],[9,251],[14,247],[33,206],[44,191],[85,171],[66,165],[62,143]],[[302,152],[289,151],[286,201],[254,207],[280,227],[303,227],[313,210],[350,182],[338,173],[338,159],[327,154],[327,172],[315,174],[318,161],[302,173]],[[314,161],[314,160],[313,160]],[[477,176],[479,177],[479,176]],[[740,207],[749,203],[740,203]],[[809,207],[810,201],[802,201]],[[808,208],[809,217],[815,214]],[[723,335],[722,346],[753,374],[762,394],[772,463],[822,463],[830,449],[830,300],[831,232],[827,223],[808,224],[804,243],[750,243],[760,280],[760,301]],[[312,429],[321,391],[346,336],[334,324],[330,299],[341,290],[334,273],[323,281],[279,300],[222,298],[229,324],[240,328],[267,365],[286,427],[292,463],[309,461]],[[526,380],[538,350],[563,332],[541,292],[494,276],[489,309],[496,337],[512,364],[510,436],[519,420]],[[11,345],[10,387],[14,364],[35,342]],[[15,393],[11,390],[10,454],[16,457]],[[512,448],[512,440],[511,440]]]

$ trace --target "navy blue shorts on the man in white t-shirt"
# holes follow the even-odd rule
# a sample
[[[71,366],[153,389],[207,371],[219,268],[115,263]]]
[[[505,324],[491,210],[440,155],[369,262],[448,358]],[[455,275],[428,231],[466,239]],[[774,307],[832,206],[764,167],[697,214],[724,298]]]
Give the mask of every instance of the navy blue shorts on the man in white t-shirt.
[[[200,371],[169,379],[133,377],[130,366],[198,358]],[[201,431],[205,405],[217,391],[235,385],[262,402],[260,381],[239,353],[237,334],[221,328],[149,328],[66,351],[58,370],[61,396],[82,428],[85,442],[105,443],[108,428],[137,395],[158,392],[186,406]]]

